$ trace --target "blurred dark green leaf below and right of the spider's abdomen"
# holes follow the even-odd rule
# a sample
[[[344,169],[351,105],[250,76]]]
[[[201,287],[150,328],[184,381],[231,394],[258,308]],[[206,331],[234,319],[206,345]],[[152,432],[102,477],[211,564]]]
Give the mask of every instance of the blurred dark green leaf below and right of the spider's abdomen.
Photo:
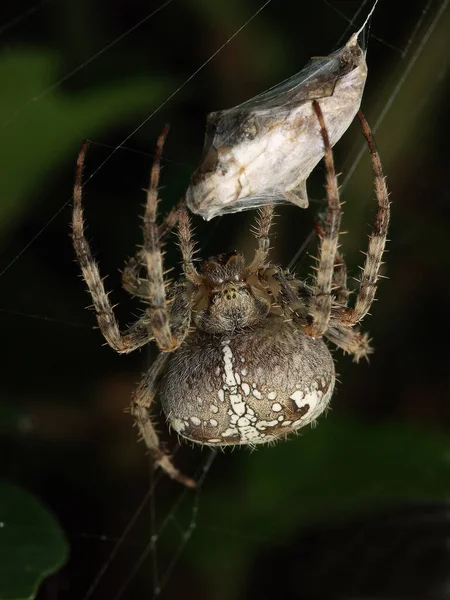
[[[397,423],[328,419],[289,442],[241,451],[239,461],[232,489],[206,481],[189,553],[205,576],[227,580],[217,598],[235,597],[229,582],[239,589],[257,549],[286,543],[301,526],[450,494],[448,436]]]

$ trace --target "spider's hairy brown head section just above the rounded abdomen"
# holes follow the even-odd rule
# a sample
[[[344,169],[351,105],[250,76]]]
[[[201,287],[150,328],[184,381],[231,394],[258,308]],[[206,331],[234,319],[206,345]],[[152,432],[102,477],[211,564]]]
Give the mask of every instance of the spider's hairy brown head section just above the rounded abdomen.
[[[248,282],[245,260],[239,252],[219,254],[202,265],[203,284],[194,306],[196,326],[209,333],[232,332],[264,319],[270,302],[259,297]]]

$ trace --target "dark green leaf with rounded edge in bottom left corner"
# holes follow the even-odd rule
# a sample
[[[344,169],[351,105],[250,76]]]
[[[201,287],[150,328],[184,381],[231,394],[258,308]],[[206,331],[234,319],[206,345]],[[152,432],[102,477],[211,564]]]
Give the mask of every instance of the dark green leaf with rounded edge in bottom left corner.
[[[67,556],[63,533],[47,509],[32,494],[0,483],[0,598],[34,598]]]

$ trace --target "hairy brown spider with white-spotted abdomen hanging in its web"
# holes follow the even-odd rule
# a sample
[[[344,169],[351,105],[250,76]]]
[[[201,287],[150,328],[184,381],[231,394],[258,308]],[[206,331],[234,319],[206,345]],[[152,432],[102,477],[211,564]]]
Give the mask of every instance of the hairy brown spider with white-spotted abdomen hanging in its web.
[[[259,210],[257,249],[246,264],[240,252],[219,254],[197,269],[195,243],[185,208],[177,211],[182,276],[165,281],[157,204],[161,134],[151,169],[143,217],[142,248],[126,265],[124,288],[147,308],[121,331],[98,265],[86,240],[82,171],[86,145],[77,161],[72,235],[98,325],[107,343],[127,353],[155,341],[160,353],[134,393],[131,413],[156,465],[193,487],[163,449],[150,408],[159,394],[169,427],[207,446],[254,446],[285,438],[313,423],[328,406],[335,383],[334,361],[323,338],[355,361],[372,349],[357,324],[374,300],[389,224],[389,199],[370,128],[361,113],[375,180],[378,209],[353,306],[348,305],[347,271],[338,238],[341,204],[324,117],[314,101],[325,151],[327,209],[318,228],[317,268],[311,284],[269,259],[272,205]],[[169,219],[174,221],[173,214]],[[142,269],[145,277],[141,277]]]

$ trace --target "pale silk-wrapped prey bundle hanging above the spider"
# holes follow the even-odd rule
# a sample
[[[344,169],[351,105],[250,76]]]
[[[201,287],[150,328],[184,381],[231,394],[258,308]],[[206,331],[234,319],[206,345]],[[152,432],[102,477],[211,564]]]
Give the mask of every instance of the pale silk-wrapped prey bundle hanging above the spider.
[[[324,154],[312,101],[320,103],[334,145],[358,112],[366,77],[354,34],[268,91],[210,113],[202,162],[186,193],[190,210],[209,221],[267,203],[306,208],[306,180]]]

